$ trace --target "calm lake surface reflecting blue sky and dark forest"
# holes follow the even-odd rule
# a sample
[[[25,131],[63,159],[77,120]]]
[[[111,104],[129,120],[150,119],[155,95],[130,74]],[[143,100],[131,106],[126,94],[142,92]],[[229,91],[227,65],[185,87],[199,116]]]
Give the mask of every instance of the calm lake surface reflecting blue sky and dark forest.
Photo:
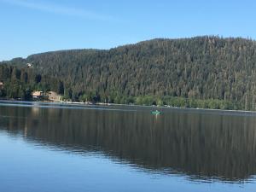
[[[256,114],[0,102],[0,191],[256,191]]]

